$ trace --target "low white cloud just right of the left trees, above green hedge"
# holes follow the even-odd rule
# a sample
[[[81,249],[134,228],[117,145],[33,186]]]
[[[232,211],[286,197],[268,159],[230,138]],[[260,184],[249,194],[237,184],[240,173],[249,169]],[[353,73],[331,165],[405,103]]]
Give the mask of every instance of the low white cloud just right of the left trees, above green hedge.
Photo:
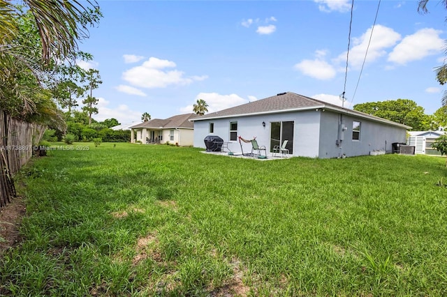
[[[127,105],[119,105],[112,109],[108,107],[110,102],[104,98],[98,98],[98,114],[94,116],[96,121],[104,121],[105,119],[115,118],[119,123],[131,123],[132,121],[140,121],[142,112],[135,112],[129,109]]]

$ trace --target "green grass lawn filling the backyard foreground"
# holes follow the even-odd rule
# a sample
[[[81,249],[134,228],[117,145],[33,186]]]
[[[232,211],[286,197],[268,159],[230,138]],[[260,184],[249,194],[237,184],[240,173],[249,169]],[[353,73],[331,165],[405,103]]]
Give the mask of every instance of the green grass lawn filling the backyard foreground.
[[[0,295],[447,295],[444,158],[87,145],[17,176]]]

